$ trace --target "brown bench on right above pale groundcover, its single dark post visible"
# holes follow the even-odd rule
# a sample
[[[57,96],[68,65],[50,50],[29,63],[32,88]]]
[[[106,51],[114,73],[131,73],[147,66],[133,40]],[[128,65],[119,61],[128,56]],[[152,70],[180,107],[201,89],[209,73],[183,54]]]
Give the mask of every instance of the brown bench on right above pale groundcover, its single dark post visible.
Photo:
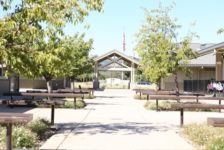
[[[184,124],[184,109],[224,109],[224,105],[217,104],[171,104],[172,109],[180,110],[180,126]]]

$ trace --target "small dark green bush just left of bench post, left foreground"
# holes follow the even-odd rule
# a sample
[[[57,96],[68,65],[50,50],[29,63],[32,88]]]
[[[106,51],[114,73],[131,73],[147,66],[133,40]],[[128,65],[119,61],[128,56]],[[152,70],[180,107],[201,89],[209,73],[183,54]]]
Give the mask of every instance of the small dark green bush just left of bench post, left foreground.
[[[50,128],[50,123],[45,119],[37,119],[35,121],[31,121],[27,124],[27,127],[34,133],[38,135],[40,139],[44,137],[45,133]]]

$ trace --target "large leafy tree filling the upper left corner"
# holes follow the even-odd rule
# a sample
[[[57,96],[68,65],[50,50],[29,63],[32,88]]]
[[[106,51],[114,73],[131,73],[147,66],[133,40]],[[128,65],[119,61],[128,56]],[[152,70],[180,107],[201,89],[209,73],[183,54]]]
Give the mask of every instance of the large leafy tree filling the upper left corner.
[[[0,20],[0,48],[8,75],[37,77],[46,81],[61,75],[58,67],[64,54],[61,39],[67,23],[76,25],[90,11],[101,11],[101,0],[1,0],[8,14]],[[67,56],[67,55],[66,55]],[[50,89],[49,89],[50,90]]]

